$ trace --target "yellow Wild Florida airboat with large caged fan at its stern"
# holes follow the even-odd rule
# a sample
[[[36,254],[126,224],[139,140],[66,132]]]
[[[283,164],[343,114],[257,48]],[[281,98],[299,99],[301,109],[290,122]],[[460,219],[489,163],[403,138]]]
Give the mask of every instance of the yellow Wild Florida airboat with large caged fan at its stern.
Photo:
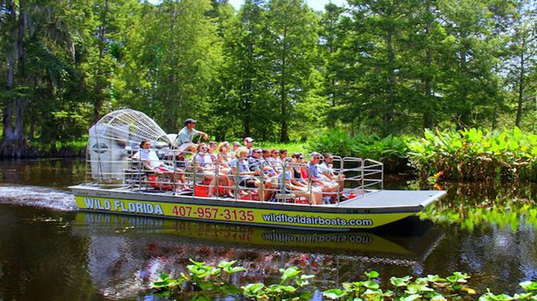
[[[141,141],[149,141],[150,152],[173,172],[146,169],[138,154]],[[264,187],[263,173],[260,187],[243,187],[240,176],[232,173],[227,175],[232,180],[224,187],[218,183],[217,175],[222,173],[219,164],[215,164],[216,184],[211,185],[197,168],[197,154],[174,143],[175,136],[166,134],[143,112],[110,112],[89,130],[86,180],[70,187],[77,207],[109,214],[350,231],[380,227],[416,215],[446,194],[437,190],[384,189],[382,163],[339,156],[334,156],[333,170],[344,177],[344,186],[338,191],[323,192],[324,199],[331,200],[326,203],[313,204],[304,194],[280,190],[281,185]],[[178,154],[184,156],[179,159]],[[281,164],[281,169],[286,170],[288,163]],[[182,168],[176,169],[177,166]],[[178,182],[178,174],[184,182]],[[307,185],[314,185],[311,178]],[[209,196],[209,189],[213,189],[213,196]],[[224,194],[223,189],[231,189],[234,197]],[[264,192],[272,192],[273,198],[257,197]]]

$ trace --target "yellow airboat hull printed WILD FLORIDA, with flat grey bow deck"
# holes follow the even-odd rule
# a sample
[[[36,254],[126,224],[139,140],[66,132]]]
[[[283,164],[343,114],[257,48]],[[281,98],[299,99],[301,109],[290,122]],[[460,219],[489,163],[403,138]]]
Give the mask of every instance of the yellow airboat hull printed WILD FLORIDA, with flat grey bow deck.
[[[336,205],[271,203],[170,193],[70,187],[82,211],[324,231],[371,229],[422,211],[445,191],[368,190]]]

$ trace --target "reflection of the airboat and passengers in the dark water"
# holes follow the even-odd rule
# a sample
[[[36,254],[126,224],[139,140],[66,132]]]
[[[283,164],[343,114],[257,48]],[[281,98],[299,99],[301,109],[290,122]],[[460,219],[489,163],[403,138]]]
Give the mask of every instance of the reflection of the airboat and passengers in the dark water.
[[[159,273],[185,272],[188,258],[210,264],[239,260],[248,272],[234,279],[237,285],[277,277],[278,269],[288,265],[315,273],[329,285],[346,278],[342,262],[420,266],[442,240],[441,231],[417,219],[388,227],[315,233],[79,211],[73,229],[89,238],[88,270],[101,293],[128,298],[144,291]],[[349,277],[358,274],[353,273]]]

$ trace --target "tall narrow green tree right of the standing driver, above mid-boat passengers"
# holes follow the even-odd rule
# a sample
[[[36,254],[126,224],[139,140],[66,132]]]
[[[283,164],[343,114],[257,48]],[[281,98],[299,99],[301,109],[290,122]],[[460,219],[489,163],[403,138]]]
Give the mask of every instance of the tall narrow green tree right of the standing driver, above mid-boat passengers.
[[[221,130],[235,136],[271,138],[266,129],[274,126],[271,116],[275,112],[268,103],[271,65],[264,38],[269,33],[262,4],[262,1],[246,0],[224,33],[219,102],[215,110],[224,121]]]

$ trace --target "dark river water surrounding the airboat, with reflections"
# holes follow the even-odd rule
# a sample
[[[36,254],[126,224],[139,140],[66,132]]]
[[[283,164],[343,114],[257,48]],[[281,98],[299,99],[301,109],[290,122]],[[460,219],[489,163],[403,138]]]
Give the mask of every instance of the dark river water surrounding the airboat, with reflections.
[[[463,271],[480,293],[537,280],[536,185],[447,184],[421,219],[313,233],[77,212],[67,187],[83,181],[80,160],[0,161],[0,300],[141,299],[188,258],[239,260],[248,272],[237,285],[276,281],[289,265],[315,274],[321,290],[369,269],[384,283]],[[385,186],[432,188],[400,176]]]

